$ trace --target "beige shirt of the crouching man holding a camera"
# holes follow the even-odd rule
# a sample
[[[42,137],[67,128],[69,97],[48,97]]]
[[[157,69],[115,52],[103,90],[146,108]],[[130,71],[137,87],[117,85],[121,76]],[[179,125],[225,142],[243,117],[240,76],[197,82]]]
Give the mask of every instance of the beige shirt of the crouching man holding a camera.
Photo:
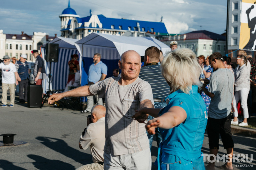
[[[105,145],[105,117],[100,118],[95,123],[90,123],[84,135],[80,136],[80,141],[83,149],[90,146],[92,161],[94,163],[104,162],[104,145]]]

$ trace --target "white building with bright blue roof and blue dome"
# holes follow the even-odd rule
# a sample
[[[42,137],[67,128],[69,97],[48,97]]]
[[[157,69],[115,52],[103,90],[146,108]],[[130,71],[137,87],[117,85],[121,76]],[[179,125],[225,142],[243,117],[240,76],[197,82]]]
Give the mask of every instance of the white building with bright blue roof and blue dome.
[[[65,38],[82,39],[92,32],[111,34],[117,36],[145,36],[166,35],[169,36],[165,24],[162,22],[150,22],[139,20],[127,20],[118,18],[108,18],[104,15],[92,15],[81,17],[70,7],[62,11],[61,36]]]

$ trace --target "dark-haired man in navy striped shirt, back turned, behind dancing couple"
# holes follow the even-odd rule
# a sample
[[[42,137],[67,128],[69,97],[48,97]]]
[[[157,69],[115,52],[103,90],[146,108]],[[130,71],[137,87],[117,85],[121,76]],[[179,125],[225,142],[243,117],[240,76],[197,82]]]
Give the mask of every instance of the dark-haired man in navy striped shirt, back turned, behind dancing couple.
[[[160,57],[160,50],[157,47],[149,47],[145,51],[144,67],[141,68],[139,78],[147,81],[153,92],[155,108],[163,108],[166,106],[164,99],[169,95],[170,86],[167,84],[165,78],[162,76],[158,60]],[[153,119],[152,116],[148,120]],[[153,135],[148,134],[150,150],[153,142]],[[156,128],[157,146],[162,141],[159,129]]]

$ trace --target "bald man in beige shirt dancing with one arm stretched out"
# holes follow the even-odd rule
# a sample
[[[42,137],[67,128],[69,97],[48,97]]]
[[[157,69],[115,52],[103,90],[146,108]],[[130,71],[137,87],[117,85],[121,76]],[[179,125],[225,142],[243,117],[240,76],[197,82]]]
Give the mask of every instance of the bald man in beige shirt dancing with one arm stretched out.
[[[106,99],[104,169],[151,169],[151,154],[145,124],[135,121],[135,110],[154,108],[151,86],[140,79],[141,57],[133,50],[118,62],[121,77],[110,77],[91,86],[53,94],[48,103],[63,97],[99,94]]]

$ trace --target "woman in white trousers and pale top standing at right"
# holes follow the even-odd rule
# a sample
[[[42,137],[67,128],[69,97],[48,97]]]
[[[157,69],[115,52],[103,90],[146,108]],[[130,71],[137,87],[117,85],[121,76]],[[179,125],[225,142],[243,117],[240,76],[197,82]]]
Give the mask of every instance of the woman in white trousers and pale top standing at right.
[[[235,95],[233,102],[236,103],[234,109],[234,120],[231,121],[232,125],[248,126],[247,118],[249,117],[247,98],[250,91],[250,78],[248,68],[246,67],[247,59],[244,55],[238,55],[236,58],[238,64],[235,69]],[[243,108],[244,120],[238,124],[238,111],[237,103],[241,100],[241,107]]]

